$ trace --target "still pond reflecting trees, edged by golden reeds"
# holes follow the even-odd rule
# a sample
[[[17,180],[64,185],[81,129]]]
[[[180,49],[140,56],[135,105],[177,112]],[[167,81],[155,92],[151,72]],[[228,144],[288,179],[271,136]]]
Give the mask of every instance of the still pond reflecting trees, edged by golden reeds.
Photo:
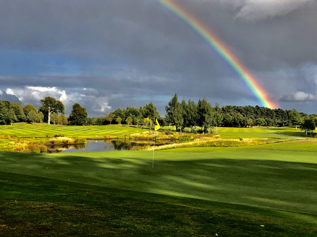
[[[165,145],[174,143],[173,140],[157,140],[156,145]],[[65,146],[48,146],[48,153],[64,153],[77,151],[122,151],[138,149],[138,147],[153,146],[153,141],[125,141],[125,140],[87,140],[83,145],[65,145]]]

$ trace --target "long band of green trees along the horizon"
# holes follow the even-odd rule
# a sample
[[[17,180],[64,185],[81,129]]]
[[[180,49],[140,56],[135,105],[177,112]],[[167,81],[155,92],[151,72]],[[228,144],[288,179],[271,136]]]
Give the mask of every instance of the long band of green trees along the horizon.
[[[297,112],[295,109],[270,109],[262,106],[213,107],[204,97],[197,103],[193,100],[179,101],[175,93],[165,106],[165,117],[161,117],[156,106],[150,102],[145,106],[117,108],[113,112],[97,118],[87,117],[86,108],[75,103],[68,117],[64,115],[65,107],[60,100],[45,97],[40,100],[41,107],[21,106],[19,103],[0,100],[0,125],[12,123],[49,123],[58,125],[107,125],[128,124],[152,126],[157,118],[161,125],[175,125],[177,130],[210,131],[212,127],[252,127],[252,126],[290,126],[303,125],[313,131],[317,125],[317,115]],[[199,131],[198,131],[199,132]]]

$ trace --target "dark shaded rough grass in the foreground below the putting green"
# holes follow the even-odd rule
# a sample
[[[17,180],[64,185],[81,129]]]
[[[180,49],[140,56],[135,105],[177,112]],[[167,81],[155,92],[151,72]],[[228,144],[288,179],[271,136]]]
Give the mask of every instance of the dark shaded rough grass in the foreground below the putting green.
[[[23,174],[0,172],[0,177],[1,236],[313,237],[317,233],[316,217],[305,214]]]

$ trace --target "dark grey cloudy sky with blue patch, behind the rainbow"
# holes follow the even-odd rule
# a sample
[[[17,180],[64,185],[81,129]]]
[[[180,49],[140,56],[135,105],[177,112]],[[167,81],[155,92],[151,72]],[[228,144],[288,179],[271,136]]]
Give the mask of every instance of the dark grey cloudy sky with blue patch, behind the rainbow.
[[[317,113],[317,1],[173,0],[209,27],[282,109]],[[260,105],[191,26],[155,0],[0,0],[0,99],[88,116],[178,98]]]

